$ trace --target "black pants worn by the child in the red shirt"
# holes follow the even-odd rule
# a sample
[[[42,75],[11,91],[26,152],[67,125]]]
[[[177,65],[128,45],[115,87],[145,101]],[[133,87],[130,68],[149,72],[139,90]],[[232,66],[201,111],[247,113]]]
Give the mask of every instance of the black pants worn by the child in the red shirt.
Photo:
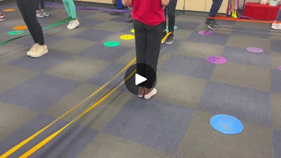
[[[152,88],[156,79],[158,57],[163,34],[163,23],[156,26],[146,25],[134,20],[136,73],[147,78],[147,81],[138,86]],[[150,66],[146,67],[146,65]],[[154,72],[155,73],[154,73]]]

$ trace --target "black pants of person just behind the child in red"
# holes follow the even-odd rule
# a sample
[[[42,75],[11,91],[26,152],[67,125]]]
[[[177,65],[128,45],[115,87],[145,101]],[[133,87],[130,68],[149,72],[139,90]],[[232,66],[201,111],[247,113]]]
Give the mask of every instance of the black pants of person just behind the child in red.
[[[173,32],[174,31],[174,26],[175,26],[175,21],[176,21],[176,7],[177,7],[177,3],[178,0],[170,0],[170,3],[167,7],[165,7],[164,9],[164,13],[165,13],[165,28],[167,26],[167,19],[166,19],[166,15],[168,13],[168,30],[169,32]]]

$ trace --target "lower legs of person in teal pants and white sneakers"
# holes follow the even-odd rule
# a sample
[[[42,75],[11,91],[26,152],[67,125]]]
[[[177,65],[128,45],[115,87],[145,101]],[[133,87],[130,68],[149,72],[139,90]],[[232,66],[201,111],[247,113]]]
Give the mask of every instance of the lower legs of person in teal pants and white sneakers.
[[[73,0],[63,0],[65,9],[68,13],[68,16],[72,18],[72,20],[69,22],[67,25],[68,29],[74,29],[79,25],[79,21],[77,20],[76,17],[76,10],[75,10],[75,5],[73,3]]]

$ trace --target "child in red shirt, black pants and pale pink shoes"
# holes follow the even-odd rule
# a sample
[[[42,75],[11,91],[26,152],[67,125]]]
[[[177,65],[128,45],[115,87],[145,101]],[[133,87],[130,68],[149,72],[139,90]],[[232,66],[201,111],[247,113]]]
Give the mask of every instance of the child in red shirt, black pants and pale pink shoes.
[[[140,98],[150,99],[157,93],[152,86],[156,79],[163,22],[165,21],[163,8],[169,2],[169,0],[122,0],[123,5],[133,7],[136,73],[147,78],[147,81],[138,84],[138,97]]]

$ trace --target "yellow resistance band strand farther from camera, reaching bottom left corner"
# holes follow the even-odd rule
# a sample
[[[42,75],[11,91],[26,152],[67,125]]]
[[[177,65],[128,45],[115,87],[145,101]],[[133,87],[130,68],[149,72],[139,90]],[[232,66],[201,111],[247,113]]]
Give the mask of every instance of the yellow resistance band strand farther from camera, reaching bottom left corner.
[[[136,58],[133,58],[129,64],[124,67],[118,74],[116,74],[113,78],[111,78],[107,83],[105,83],[103,86],[101,86],[98,90],[96,90],[94,93],[92,93],[88,98],[86,98],[85,100],[83,100],[82,102],[80,102],[79,104],[75,105],[73,108],[71,108],[69,111],[67,111],[66,113],[64,113],[63,115],[61,115],[59,118],[57,118],[56,120],[54,120],[53,122],[51,122],[50,124],[48,124],[46,127],[44,127],[43,129],[41,129],[40,131],[36,132],[34,135],[30,136],[29,138],[25,139],[24,141],[20,142],[19,144],[17,144],[16,146],[14,146],[13,148],[11,148],[10,150],[8,150],[7,152],[5,152],[3,155],[0,156],[0,158],[6,158],[9,155],[11,155],[12,153],[14,153],[15,151],[17,151],[19,148],[21,148],[23,145],[29,143],[31,140],[33,140],[35,137],[37,137],[39,134],[41,134],[42,132],[44,132],[46,129],[48,129],[52,124],[54,124],[55,122],[59,121],[60,119],[64,118],[66,115],[68,115],[69,113],[71,113],[73,110],[77,109],[79,106],[81,106],[83,103],[85,103],[88,99],[90,99],[91,97],[93,97],[96,93],[98,93],[100,90],[102,90],[106,85],[108,85],[112,80],[114,80],[117,76],[119,76],[120,74],[122,74],[126,69],[128,69],[133,62],[136,60]]]

